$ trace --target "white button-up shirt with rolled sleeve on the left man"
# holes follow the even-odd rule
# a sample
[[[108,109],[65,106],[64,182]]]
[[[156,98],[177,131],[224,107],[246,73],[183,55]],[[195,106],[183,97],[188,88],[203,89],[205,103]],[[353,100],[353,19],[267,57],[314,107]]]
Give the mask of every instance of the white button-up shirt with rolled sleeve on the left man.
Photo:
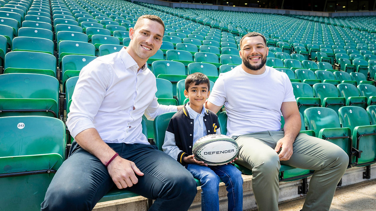
[[[82,68],[67,119],[73,137],[96,128],[106,143],[149,144],[142,133],[143,114],[152,120],[177,107],[159,105],[155,75],[147,64],[137,72],[138,68],[125,48]]]

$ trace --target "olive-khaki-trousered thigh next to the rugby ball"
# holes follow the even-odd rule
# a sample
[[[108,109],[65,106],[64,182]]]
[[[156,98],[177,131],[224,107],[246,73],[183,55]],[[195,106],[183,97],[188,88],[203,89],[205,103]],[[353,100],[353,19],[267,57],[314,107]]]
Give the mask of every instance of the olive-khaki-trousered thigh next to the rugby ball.
[[[263,163],[279,166],[278,154],[274,151],[276,143],[268,134],[268,132],[262,132],[239,136],[236,139],[239,145],[239,156],[235,163],[249,169]]]

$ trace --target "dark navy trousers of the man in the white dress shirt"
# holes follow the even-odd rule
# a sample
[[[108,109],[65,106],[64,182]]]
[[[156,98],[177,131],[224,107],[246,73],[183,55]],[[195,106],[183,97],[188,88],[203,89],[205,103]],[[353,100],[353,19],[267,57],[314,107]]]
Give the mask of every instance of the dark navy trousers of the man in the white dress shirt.
[[[196,196],[197,185],[180,163],[153,145],[108,145],[120,157],[133,161],[144,173],[144,176],[137,176],[137,184],[126,190],[156,199],[149,210],[188,210]],[[114,185],[105,165],[73,142],[70,156],[58,169],[47,189],[41,210],[91,210]]]

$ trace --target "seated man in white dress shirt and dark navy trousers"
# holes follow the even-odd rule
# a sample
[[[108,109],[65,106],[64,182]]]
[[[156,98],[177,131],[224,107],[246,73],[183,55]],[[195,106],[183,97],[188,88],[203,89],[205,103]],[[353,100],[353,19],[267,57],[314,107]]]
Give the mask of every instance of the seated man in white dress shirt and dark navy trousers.
[[[41,210],[91,210],[112,188],[156,199],[150,210],[187,210],[196,182],[183,166],[147,142],[142,116],[181,109],[159,105],[147,59],[161,47],[164,24],[138,18],[128,48],[82,68],[67,127],[74,137],[68,159],[54,176]]]

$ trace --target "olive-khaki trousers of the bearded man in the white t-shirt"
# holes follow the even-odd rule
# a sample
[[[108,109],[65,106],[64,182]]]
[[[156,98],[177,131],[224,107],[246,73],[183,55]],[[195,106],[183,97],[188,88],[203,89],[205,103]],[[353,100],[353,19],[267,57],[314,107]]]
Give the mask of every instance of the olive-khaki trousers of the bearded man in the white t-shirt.
[[[349,164],[349,156],[339,146],[299,133],[290,160],[279,161],[274,151],[284,131],[264,131],[238,136],[239,163],[252,169],[252,188],[259,211],[277,211],[280,164],[314,170],[303,211],[327,211],[335,188]]]

